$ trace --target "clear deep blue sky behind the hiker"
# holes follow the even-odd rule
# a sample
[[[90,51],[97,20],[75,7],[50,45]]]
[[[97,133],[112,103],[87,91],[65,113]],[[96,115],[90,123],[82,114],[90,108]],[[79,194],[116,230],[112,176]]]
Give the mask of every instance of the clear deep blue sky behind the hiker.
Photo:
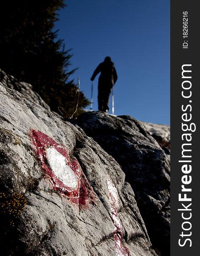
[[[91,99],[91,75],[110,56],[117,70],[114,113],[170,125],[170,0],[66,0],[57,39],[71,49],[70,76]],[[99,76],[99,75],[98,75]],[[93,110],[97,110],[98,76]],[[110,113],[111,113],[110,98]],[[87,107],[89,109],[89,106]]]

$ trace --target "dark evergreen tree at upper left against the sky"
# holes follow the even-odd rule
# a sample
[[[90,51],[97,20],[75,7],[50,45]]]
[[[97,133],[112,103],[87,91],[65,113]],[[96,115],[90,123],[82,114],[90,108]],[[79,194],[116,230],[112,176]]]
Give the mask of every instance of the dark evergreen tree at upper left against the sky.
[[[1,2],[0,68],[32,84],[52,111],[67,117],[77,97],[74,81],[69,81],[75,70],[69,71],[72,55],[53,31],[56,12],[64,6],[63,0]],[[80,92],[77,114],[88,104]]]

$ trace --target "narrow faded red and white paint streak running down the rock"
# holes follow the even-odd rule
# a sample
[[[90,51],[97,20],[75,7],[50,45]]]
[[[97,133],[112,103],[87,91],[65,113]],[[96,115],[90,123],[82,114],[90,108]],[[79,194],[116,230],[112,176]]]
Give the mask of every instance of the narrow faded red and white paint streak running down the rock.
[[[111,208],[111,220],[114,224],[114,247],[116,256],[131,256],[129,249],[122,245],[123,225],[119,216],[120,200],[117,189],[112,183],[111,179],[107,177],[107,184],[109,190],[109,202]]]

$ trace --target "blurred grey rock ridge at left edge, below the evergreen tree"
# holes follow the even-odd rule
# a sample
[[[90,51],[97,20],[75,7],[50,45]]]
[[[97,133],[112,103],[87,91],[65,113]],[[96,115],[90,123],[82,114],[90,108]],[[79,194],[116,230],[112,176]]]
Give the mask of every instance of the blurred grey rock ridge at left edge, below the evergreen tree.
[[[35,103],[40,104],[44,108],[50,110],[49,105],[43,101],[40,95],[33,91],[31,84],[20,82],[14,76],[7,75],[3,70],[0,69],[0,81],[1,83],[11,89],[17,90],[22,93],[24,96],[32,99]]]

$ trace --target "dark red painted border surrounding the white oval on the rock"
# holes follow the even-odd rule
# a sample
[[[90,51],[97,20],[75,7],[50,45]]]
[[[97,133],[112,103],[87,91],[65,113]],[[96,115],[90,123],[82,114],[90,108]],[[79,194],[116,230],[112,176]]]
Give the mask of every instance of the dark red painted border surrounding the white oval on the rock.
[[[58,144],[55,140],[53,140],[48,135],[42,133],[41,131],[32,130],[30,136],[32,143],[37,149],[37,155],[41,162],[41,168],[50,177],[50,180],[55,190],[60,192],[60,194],[63,195],[65,198],[69,199],[69,201],[79,206],[87,206],[89,202],[96,199],[93,189],[91,188],[85,175],[83,174],[83,171],[77,159],[75,157],[69,157],[69,151],[64,148],[63,145]],[[65,164],[67,168],[70,168],[73,171],[74,176],[72,175],[71,179],[76,184],[76,186],[67,186],[63,183],[63,180],[55,175],[54,171],[50,167],[50,161],[47,157],[47,151],[49,150],[49,148],[53,148],[53,150],[56,150],[65,158]],[[59,154],[58,156],[60,157]],[[53,157],[51,161],[55,163],[55,166],[56,164],[60,164],[56,163],[56,157]],[[65,174],[66,172],[64,170],[63,175],[65,176]],[[64,178],[67,180],[68,177]]]

